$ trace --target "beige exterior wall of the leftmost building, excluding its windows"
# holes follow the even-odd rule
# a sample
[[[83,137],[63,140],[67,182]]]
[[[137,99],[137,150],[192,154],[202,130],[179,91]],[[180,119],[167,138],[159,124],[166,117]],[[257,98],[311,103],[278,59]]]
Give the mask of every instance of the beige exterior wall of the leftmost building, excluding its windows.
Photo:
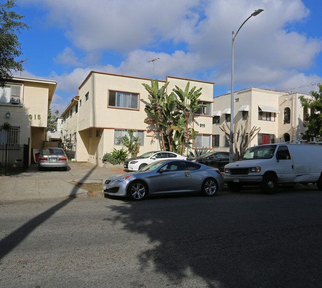
[[[35,79],[14,76],[7,85],[19,86],[20,102],[0,103],[0,124],[8,122],[11,127],[20,128],[18,144],[28,144],[30,140],[29,164],[31,149],[42,148],[46,140],[47,114],[57,82],[46,79]],[[10,117],[6,117],[6,112]]]

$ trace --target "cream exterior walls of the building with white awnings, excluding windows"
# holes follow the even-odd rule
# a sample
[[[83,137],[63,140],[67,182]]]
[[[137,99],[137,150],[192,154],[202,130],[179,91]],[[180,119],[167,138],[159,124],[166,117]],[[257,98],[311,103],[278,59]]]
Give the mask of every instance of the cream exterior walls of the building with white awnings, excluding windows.
[[[242,112],[238,109],[243,105],[249,105],[249,123],[247,132],[250,132],[252,127],[261,128],[261,134],[273,134],[275,142],[284,141],[285,133],[290,135],[290,141],[301,140],[305,133],[303,126],[303,107],[301,106],[299,96],[302,94],[285,94],[283,92],[270,91],[265,89],[250,88],[234,93],[234,99],[239,99],[234,102],[234,122],[238,121],[237,131],[241,130],[241,126],[245,128],[245,120],[242,120]],[[305,95],[310,97],[309,95]],[[276,114],[275,121],[259,120],[258,105],[275,107],[280,113]],[[284,123],[284,109],[289,107],[291,110],[290,123]],[[220,110],[220,113],[226,108],[230,108],[230,94],[217,96],[214,98],[214,111]],[[225,122],[225,116],[220,115],[218,124],[213,125],[213,134],[219,135],[219,147],[214,147],[215,150],[229,150],[229,147],[223,147],[224,133],[219,129]],[[230,127],[230,122],[227,122]],[[258,136],[254,138],[250,146],[258,144]]]

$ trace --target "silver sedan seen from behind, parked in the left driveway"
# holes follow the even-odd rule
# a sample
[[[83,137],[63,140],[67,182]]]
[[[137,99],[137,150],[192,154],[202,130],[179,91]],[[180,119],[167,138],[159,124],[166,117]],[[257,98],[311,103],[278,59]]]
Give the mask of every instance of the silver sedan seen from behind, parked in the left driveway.
[[[49,147],[41,150],[38,157],[38,170],[61,167],[67,171],[67,156],[62,148]]]

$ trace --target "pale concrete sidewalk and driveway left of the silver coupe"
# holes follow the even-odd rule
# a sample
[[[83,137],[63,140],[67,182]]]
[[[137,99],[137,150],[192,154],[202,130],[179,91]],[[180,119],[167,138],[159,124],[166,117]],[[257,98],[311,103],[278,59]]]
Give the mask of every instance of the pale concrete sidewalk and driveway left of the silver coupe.
[[[87,162],[69,162],[67,171],[60,169],[38,171],[31,164],[26,172],[0,177],[0,201],[18,199],[45,199],[60,197],[88,197],[88,192],[68,182],[101,183],[119,174]]]

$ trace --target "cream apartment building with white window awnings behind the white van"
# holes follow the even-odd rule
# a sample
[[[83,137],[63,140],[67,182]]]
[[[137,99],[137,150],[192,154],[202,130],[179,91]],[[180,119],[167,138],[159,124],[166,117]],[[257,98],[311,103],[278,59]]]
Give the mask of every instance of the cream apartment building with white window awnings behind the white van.
[[[248,88],[234,93],[234,123],[238,129],[249,116],[247,132],[252,127],[261,128],[250,146],[301,140],[305,133],[305,117],[308,111],[301,106],[299,93],[285,93],[267,89]],[[311,97],[310,95],[304,95]],[[219,127],[230,127],[231,94],[214,98],[213,105],[213,148],[229,150],[229,144]]]

